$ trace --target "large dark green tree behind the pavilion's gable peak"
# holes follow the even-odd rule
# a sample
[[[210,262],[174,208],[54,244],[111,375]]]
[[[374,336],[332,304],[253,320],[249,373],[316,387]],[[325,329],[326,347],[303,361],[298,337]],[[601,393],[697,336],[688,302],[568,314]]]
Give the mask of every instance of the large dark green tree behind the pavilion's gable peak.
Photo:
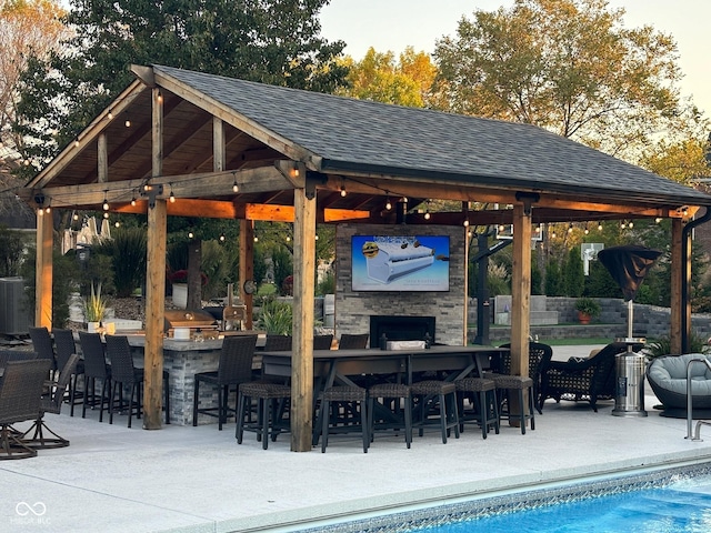
[[[73,139],[133,80],[131,63],[332,92],[347,72],[334,61],[344,43],[320,37],[327,2],[73,2],[67,22],[76,34],[63,53],[34,58],[23,77],[22,133],[42,141],[28,153],[52,155]]]

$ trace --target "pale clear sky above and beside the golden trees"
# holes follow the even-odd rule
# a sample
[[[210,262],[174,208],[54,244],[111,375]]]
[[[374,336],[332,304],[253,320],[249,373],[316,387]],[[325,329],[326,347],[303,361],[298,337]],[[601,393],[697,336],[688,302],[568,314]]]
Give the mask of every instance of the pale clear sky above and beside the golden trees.
[[[678,64],[684,74],[682,97],[711,118],[711,48],[704,39],[711,30],[711,0],[609,0],[610,8],[624,8],[624,26],[652,26],[671,34],[679,48]],[[347,43],[344,52],[359,60],[368,48],[400,53],[411,46],[415,52],[434,51],[434,42],[455,36],[462,16],[480,9],[510,8],[512,0],[331,0],[321,11],[321,34]]]

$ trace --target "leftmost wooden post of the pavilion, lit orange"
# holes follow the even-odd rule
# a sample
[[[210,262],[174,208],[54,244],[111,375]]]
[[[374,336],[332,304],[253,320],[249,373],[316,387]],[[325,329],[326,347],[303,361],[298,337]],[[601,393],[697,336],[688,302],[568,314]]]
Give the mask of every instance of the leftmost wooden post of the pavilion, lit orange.
[[[37,210],[37,259],[34,262],[34,325],[52,329],[52,214]]]

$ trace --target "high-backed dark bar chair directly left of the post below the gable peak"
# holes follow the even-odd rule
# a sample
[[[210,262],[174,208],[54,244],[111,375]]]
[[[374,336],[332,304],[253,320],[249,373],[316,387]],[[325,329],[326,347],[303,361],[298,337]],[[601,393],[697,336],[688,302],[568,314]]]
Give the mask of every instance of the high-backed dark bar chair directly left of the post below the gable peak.
[[[113,423],[113,413],[116,411],[113,401],[118,394],[119,410],[127,409],[129,415],[129,428],[131,428],[131,419],[133,413],[136,418],[141,418],[142,401],[141,389],[144,383],[143,369],[137,369],[133,365],[133,355],[131,354],[131,345],[126,335],[106,335],[107,356],[111,361],[111,401],[109,402],[109,423]],[[166,424],[170,424],[170,374],[163,370],[163,408],[166,411]],[[123,389],[128,389],[129,396],[123,403]]]

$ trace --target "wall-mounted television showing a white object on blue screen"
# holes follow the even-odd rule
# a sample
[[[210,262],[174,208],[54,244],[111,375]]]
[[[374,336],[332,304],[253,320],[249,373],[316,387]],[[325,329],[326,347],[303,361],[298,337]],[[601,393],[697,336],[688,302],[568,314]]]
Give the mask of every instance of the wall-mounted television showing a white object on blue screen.
[[[353,235],[353,291],[449,291],[449,235]]]

